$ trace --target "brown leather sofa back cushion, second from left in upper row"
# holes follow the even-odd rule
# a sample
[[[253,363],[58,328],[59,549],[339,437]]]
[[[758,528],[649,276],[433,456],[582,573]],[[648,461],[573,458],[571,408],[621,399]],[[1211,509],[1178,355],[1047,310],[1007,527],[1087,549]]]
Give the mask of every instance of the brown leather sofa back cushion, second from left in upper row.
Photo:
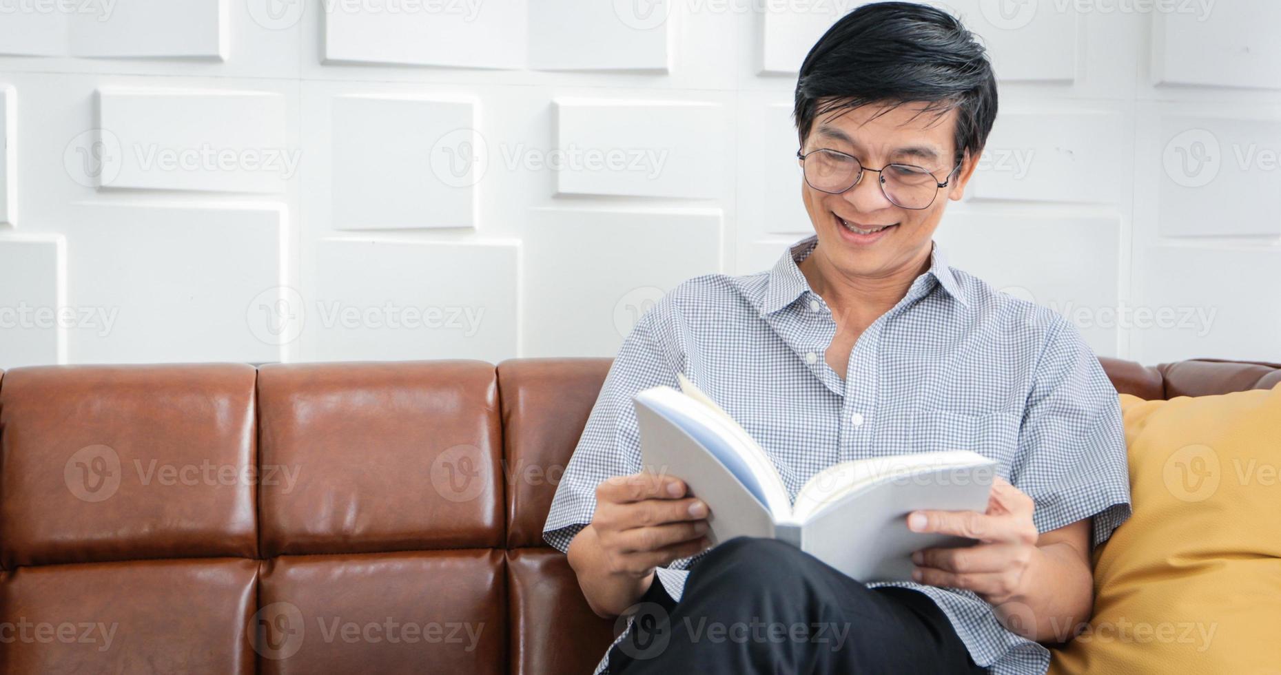
[[[260,368],[263,556],[502,546],[498,424],[482,361]]]

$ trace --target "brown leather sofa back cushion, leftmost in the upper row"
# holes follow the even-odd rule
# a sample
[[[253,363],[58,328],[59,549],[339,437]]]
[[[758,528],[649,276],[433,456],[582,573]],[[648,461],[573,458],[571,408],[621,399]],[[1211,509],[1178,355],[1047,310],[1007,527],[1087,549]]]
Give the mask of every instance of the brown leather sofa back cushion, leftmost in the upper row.
[[[254,378],[240,364],[6,373],[4,566],[255,557]]]

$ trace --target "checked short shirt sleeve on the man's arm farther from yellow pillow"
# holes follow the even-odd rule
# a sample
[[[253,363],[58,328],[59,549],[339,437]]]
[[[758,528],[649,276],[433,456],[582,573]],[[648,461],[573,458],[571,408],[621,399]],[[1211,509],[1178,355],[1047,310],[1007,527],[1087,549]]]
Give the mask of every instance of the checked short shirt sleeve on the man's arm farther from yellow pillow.
[[[562,552],[592,521],[596,487],[611,476],[640,470],[640,432],[632,398],[649,387],[678,386],[680,350],[673,339],[661,338],[664,332],[657,328],[669,306],[660,301],[623,341],[556,487],[543,539]]]

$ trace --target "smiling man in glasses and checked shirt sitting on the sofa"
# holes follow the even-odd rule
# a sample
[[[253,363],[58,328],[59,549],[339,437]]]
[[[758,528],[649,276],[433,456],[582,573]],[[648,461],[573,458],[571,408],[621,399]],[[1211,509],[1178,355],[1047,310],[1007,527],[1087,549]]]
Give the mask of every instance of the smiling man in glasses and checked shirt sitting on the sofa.
[[[690,279],[624,341],[544,538],[630,629],[611,672],[1044,672],[1091,607],[1090,549],[1130,514],[1116,391],[1077,332],[943,260],[933,234],[997,114],[990,63],[953,17],[865,5],[796,90],[815,236],[767,273]],[[787,544],[711,551],[707,505],[638,474],[633,396],[684,373],[770,453],[796,496],[839,461],[972,450],[985,512],[911,514],[977,539],[863,584]],[[642,620],[643,619],[643,620]]]

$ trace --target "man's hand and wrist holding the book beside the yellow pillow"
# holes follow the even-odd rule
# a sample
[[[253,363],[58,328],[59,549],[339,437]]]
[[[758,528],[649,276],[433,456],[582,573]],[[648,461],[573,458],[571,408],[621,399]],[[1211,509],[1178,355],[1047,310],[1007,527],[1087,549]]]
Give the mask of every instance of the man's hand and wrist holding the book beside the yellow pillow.
[[[1031,497],[999,476],[988,511],[916,511],[913,532],[977,539],[965,548],[912,553],[918,583],[972,590],[993,605],[997,619],[1035,640],[1066,642],[1093,605],[1090,519],[1038,534]]]

